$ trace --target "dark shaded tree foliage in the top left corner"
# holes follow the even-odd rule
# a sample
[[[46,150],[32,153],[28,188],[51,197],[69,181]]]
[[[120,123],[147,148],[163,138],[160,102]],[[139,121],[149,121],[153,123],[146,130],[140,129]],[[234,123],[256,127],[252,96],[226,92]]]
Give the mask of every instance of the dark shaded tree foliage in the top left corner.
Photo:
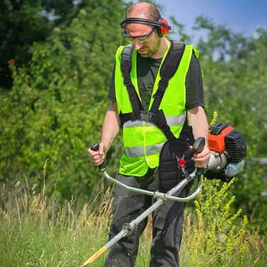
[[[58,23],[68,25],[77,12],[72,0],[27,0],[0,2],[0,87],[12,85],[9,60],[28,65],[30,48],[35,41],[47,38]]]

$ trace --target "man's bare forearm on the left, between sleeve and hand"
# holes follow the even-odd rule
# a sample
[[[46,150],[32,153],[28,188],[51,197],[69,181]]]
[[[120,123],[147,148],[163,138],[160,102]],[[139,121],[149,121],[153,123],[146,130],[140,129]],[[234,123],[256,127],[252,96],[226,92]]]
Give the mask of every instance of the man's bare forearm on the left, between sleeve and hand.
[[[107,153],[112,141],[119,132],[119,116],[115,102],[111,102],[106,113],[102,128],[101,143],[104,145],[104,153]]]

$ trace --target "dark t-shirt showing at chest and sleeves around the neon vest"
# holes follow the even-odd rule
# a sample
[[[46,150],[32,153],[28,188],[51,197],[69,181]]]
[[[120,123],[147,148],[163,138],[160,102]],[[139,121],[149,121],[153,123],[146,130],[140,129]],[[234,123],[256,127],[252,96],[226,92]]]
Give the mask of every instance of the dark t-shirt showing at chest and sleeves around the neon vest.
[[[143,108],[147,111],[153,92],[154,82],[158,74],[160,62],[162,58],[142,58],[137,53],[137,82],[139,94]],[[115,70],[115,67],[114,67]],[[107,98],[111,102],[116,102],[115,95],[115,81],[114,81],[114,70],[112,72],[109,92]],[[202,83],[202,72],[200,69],[200,63],[198,62],[195,55],[192,55],[190,60],[189,69],[185,77],[185,88],[186,88],[186,103],[185,109],[193,109],[194,107],[204,107],[204,92]]]

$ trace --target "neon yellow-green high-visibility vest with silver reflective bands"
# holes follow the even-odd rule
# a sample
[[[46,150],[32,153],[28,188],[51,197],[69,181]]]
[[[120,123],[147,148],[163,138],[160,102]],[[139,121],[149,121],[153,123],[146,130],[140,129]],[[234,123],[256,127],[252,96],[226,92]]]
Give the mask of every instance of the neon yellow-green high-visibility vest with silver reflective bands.
[[[160,67],[165,60],[169,48],[170,45],[165,51]],[[121,53],[123,50],[124,46],[120,46],[116,52],[115,67],[115,94],[119,114],[133,111],[128,91],[124,85],[124,77],[121,73]],[[165,90],[159,107],[159,109],[163,109],[167,124],[177,138],[179,137],[186,119],[185,77],[190,65],[193,50],[195,55],[198,56],[198,52],[193,45],[185,45],[178,70],[169,80],[168,87]],[[130,76],[131,82],[140,99],[136,73],[136,53],[136,50],[133,50]],[[159,73],[160,69],[155,80],[148,111],[153,103],[153,94],[155,94],[158,89],[158,82],[160,80]],[[124,153],[121,156],[119,173],[123,175],[143,176],[148,171],[148,167],[156,168],[158,166],[160,149],[165,141],[167,141],[167,138],[157,126],[145,120],[126,121],[122,127]]]

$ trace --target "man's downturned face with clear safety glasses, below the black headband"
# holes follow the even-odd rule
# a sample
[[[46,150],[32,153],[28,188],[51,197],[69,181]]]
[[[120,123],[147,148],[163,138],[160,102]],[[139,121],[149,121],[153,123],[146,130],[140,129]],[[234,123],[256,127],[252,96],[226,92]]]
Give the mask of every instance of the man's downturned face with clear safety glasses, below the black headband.
[[[134,48],[143,58],[151,57],[160,46],[160,38],[155,27],[141,23],[129,23],[126,25],[127,36],[133,40]],[[146,36],[134,38],[135,36]]]

